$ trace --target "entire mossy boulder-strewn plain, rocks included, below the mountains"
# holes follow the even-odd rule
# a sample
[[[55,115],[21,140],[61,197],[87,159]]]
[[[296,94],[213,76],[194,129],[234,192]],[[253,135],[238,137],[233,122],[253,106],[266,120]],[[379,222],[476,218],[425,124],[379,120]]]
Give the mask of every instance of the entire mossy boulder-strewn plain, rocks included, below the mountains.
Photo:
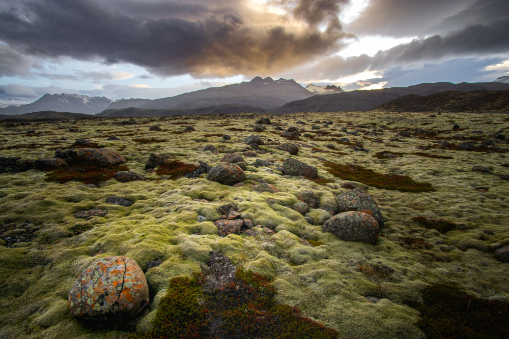
[[[0,131],[2,338],[227,337],[223,324],[251,329],[274,314],[315,334],[299,337],[509,335],[507,114],[98,118]],[[258,305],[258,318],[220,313],[229,286],[242,291],[236,306],[256,296],[242,310]],[[187,329],[161,320],[183,319],[179,307]],[[449,328],[458,332],[440,332]]]

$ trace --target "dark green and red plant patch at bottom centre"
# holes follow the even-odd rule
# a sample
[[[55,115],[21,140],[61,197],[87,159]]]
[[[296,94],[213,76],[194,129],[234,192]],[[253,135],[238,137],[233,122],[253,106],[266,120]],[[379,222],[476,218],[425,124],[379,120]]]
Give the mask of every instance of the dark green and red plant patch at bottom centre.
[[[276,304],[271,280],[238,269],[229,284],[209,288],[202,274],[173,278],[153,328],[135,338],[336,338],[339,334]]]

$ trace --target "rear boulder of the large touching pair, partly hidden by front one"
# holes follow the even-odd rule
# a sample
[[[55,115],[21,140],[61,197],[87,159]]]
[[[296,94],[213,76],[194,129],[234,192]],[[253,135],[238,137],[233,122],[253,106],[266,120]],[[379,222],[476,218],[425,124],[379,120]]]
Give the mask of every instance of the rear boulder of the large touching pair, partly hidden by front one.
[[[384,221],[377,202],[366,193],[366,191],[357,188],[336,197],[339,212],[347,211],[370,211],[371,215],[378,222],[380,228],[384,227]]]

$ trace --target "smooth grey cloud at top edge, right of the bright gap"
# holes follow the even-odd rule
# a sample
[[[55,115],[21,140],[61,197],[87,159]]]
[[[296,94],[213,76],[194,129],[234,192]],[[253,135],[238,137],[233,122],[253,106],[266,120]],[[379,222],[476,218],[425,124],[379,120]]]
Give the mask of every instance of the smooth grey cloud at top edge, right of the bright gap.
[[[415,37],[442,19],[466,9],[475,0],[371,0],[348,30],[355,34]],[[484,1],[484,0],[483,0]],[[507,2],[507,0],[498,0]],[[464,23],[463,28],[469,23]],[[443,32],[443,31],[442,31]],[[433,32],[440,33],[440,32]]]

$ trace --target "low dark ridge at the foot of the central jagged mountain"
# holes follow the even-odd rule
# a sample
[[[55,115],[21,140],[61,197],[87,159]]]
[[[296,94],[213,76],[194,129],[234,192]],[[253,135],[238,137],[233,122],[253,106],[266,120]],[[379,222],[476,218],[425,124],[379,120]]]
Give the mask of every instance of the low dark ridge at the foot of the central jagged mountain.
[[[128,107],[122,109],[107,109],[96,114],[97,117],[148,117],[172,115],[206,115],[206,114],[233,114],[233,113],[265,113],[265,109],[249,105],[221,105],[199,107],[194,109],[144,109]]]

